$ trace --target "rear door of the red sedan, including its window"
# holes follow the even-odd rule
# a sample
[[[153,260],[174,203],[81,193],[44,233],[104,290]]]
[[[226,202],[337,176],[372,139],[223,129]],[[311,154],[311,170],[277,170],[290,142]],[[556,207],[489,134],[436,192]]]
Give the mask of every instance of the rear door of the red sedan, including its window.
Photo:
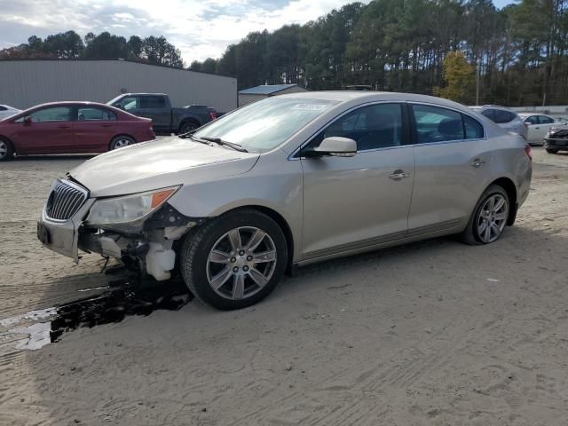
[[[79,152],[100,153],[108,150],[114,137],[116,114],[102,106],[77,106],[75,148]]]

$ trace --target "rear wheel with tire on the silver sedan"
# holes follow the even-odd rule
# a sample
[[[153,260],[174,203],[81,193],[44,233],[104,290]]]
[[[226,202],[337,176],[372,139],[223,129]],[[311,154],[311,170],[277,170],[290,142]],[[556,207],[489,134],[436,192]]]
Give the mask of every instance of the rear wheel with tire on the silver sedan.
[[[509,196],[500,185],[490,185],[481,194],[461,241],[469,245],[489,244],[501,238],[509,218]]]

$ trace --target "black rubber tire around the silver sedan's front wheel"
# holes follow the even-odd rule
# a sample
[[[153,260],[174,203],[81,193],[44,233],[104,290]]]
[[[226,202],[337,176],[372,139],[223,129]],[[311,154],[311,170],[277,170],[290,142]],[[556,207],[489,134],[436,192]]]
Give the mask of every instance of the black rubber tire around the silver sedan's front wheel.
[[[273,246],[276,250],[276,260],[273,266],[272,276],[270,280],[264,284],[264,287],[256,290],[256,293],[252,293],[251,291],[250,296],[244,295],[241,299],[221,296],[209,285],[209,253],[214,247],[218,247],[216,244],[219,243],[220,239],[221,241],[223,240],[226,233],[237,228],[244,229],[247,227],[255,227],[264,231],[264,233],[267,233],[270,237],[270,241],[273,242]],[[243,245],[245,245],[244,241]],[[210,220],[194,232],[188,233],[179,251],[180,271],[187,288],[189,288],[193,295],[201,302],[210,304],[223,311],[245,308],[256,304],[264,299],[264,297],[270,295],[286,270],[287,263],[288,250],[286,237],[284,233],[282,233],[280,226],[276,224],[271,217],[255,209],[234,210]],[[229,266],[228,264],[226,267],[233,268],[233,266]],[[234,292],[233,286],[235,286],[235,284],[230,281],[233,281],[233,279],[226,280],[223,286],[231,286]],[[248,284],[243,284],[243,286],[254,289],[254,282],[250,279],[248,279],[247,282]]]

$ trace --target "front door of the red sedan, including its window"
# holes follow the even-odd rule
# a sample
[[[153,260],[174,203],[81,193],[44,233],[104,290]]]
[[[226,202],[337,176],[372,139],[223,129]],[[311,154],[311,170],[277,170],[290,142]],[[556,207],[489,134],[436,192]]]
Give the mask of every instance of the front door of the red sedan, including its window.
[[[45,106],[20,117],[14,125],[14,143],[22,154],[74,153],[75,106]]]

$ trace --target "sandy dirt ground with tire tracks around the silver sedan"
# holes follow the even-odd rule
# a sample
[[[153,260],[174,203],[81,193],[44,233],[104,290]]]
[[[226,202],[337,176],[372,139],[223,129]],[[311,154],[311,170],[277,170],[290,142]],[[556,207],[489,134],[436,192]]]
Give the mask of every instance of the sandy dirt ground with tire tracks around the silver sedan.
[[[0,424],[568,424],[568,154],[534,149],[501,241],[309,266],[239,312],[42,248],[51,180],[83,160],[0,164]],[[67,331],[16,349],[30,326]]]

